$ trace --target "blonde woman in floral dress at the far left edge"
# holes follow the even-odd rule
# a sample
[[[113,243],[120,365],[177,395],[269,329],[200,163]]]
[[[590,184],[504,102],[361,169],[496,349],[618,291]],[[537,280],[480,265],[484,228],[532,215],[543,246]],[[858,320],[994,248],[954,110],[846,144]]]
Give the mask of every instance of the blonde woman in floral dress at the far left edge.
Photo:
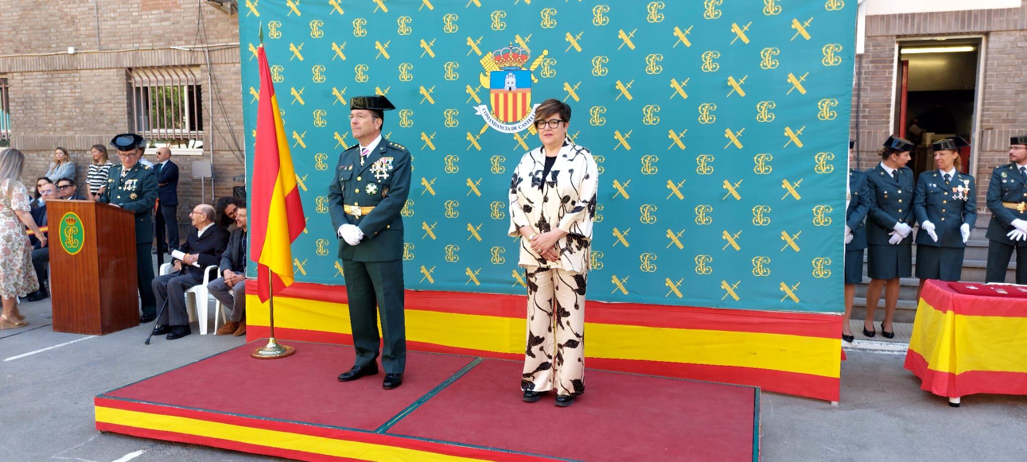
[[[29,191],[22,184],[25,154],[12,148],[0,151],[0,330],[28,325],[17,312],[16,297],[39,290],[39,279],[32,266],[32,245],[25,233],[28,226],[46,245],[46,236],[39,231],[30,213]],[[22,226],[22,225],[25,226]]]

